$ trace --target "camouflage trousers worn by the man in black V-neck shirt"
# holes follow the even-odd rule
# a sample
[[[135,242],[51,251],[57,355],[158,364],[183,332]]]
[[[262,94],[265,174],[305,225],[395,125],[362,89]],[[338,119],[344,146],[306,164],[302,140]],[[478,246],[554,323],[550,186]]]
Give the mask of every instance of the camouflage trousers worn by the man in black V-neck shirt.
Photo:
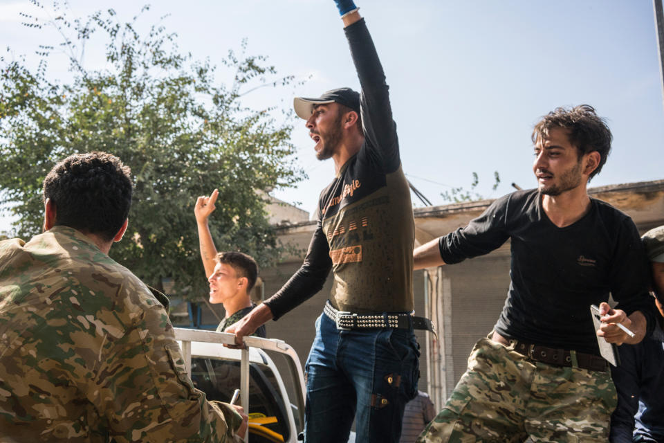
[[[616,388],[609,372],[531,361],[482,338],[447,404],[418,438],[432,442],[602,442]]]

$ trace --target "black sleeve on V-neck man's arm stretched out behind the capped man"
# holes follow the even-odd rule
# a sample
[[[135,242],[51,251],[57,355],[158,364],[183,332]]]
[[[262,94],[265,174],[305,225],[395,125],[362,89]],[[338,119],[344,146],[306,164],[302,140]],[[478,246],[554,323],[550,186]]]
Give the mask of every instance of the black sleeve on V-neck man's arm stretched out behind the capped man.
[[[509,238],[506,230],[508,202],[509,195],[497,199],[468,226],[441,237],[438,246],[443,262],[459,263],[466,258],[488,254],[504,244]]]

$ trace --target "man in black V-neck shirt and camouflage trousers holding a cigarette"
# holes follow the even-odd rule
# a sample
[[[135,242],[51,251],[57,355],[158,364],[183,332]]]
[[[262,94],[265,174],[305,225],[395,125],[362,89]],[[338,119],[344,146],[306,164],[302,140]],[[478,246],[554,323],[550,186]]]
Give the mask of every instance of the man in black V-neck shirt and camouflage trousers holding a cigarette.
[[[609,343],[654,327],[645,253],[634,222],[591,199],[611,132],[595,110],[558,108],[535,125],[538,189],[497,199],[477,219],[414,251],[415,268],[461,262],[511,239],[510,289],[468,370],[418,442],[607,442],[616,389],[590,305]],[[607,304],[609,292],[618,302]],[[616,324],[622,323],[631,338]]]

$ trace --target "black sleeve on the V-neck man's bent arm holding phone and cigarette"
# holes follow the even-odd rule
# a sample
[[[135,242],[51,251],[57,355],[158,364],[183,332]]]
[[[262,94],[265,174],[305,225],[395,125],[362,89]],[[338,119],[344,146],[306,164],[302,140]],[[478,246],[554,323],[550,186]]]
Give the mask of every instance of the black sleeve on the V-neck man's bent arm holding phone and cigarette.
[[[647,320],[646,336],[652,334],[658,316],[649,294],[650,266],[634,221],[626,218],[616,239],[616,252],[609,274],[611,296],[627,315],[640,311]]]

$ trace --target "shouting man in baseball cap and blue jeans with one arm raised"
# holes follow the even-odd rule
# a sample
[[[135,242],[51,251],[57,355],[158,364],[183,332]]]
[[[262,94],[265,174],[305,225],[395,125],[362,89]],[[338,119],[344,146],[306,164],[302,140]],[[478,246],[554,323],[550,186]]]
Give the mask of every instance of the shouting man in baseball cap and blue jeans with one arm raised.
[[[400,164],[385,74],[352,1],[337,0],[362,90],[295,98],[318,159],[335,177],[320,194],[317,227],[302,267],[274,296],[226,329],[236,342],[333,286],[306,364],[305,442],[398,442],[404,406],[417,393],[413,329],[414,221]],[[297,320],[291,316],[291,321]]]

